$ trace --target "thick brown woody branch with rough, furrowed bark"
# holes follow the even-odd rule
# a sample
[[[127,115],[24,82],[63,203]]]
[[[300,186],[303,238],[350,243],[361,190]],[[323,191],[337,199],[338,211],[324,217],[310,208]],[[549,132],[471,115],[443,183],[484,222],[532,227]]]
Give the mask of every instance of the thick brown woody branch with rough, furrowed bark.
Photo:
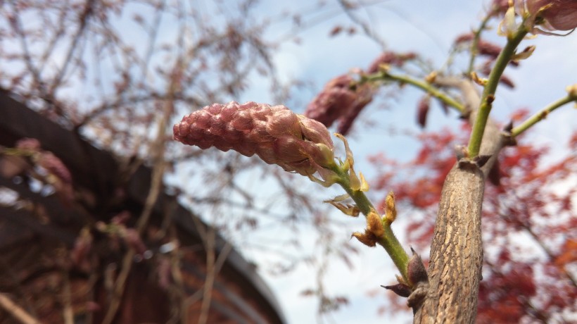
[[[459,89],[468,107],[478,107],[478,94],[471,82],[456,78],[438,78],[436,82]],[[473,123],[476,111],[467,117]],[[485,179],[507,140],[489,120],[481,145],[481,155],[490,155],[489,161],[481,168],[474,163],[457,164],[445,179],[431,244],[429,286],[422,287],[418,296],[411,296],[419,301],[413,307],[414,323],[474,323],[483,264],[481,205]]]

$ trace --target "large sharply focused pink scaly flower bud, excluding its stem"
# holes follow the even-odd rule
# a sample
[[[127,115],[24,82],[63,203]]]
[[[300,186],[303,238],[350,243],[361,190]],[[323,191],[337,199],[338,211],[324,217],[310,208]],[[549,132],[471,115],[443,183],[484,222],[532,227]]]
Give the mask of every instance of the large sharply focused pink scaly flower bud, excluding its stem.
[[[312,175],[334,163],[334,146],[326,127],[285,106],[252,101],[213,104],[184,116],[173,132],[174,139],[184,144],[257,154],[266,163],[301,175]]]

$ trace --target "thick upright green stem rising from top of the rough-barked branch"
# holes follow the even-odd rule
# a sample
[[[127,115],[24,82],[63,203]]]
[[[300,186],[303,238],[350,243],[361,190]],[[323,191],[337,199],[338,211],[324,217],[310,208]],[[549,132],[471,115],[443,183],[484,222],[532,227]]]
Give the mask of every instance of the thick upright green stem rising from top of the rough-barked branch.
[[[527,35],[528,31],[522,26],[523,25],[507,39],[507,44],[505,44],[505,47],[503,47],[501,53],[497,56],[495,66],[493,66],[493,70],[491,70],[489,74],[485,89],[483,89],[483,94],[481,95],[481,106],[478,108],[477,118],[473,125],[473,131],[471,132],[471,139],[469,140],[469,158],[474,158],[479,154],[483,132],[485,132],[489,113],[493,107],[493,100],[495,100],[495,91],[497,90],[499,79],[503,71],[505,71],[507,64],[509,64],[509,61],[511,61],[515,55],[517,46],[519,46],[521,40]]]

